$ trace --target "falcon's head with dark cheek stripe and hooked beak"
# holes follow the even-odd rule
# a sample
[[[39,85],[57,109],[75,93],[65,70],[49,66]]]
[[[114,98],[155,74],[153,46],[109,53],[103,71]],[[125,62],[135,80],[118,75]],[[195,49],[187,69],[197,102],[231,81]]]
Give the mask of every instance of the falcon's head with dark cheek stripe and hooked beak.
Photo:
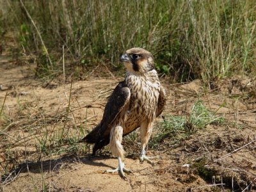
[[[128,72],[147,73],[154,69],[152,54],[139,47],[125,51],[120,57],[120,61],[124,61],[124,65]]]

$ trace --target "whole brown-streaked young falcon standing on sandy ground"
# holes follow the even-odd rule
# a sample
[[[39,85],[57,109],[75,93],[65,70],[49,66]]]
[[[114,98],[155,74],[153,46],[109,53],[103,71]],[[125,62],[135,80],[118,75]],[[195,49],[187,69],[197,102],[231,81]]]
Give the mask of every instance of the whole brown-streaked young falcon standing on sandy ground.
[[[124,61],[127,71],[125,79],[116,86],[109,97],[100,124],[84,137],[83,141],[95,143],[93,154],[110,142],[111,152],[118,158],[118,168],[107,172],[120,171],[125,178],[124,171],[129,170],[122,162],[122,137],[140,127],[140,161],[151,163],[146,156],[145,147],[152,133],[154,120],[163,111],[166,96],[154,70],[150,52],[142,48],[132,48],[120,57],[120,61]]]

